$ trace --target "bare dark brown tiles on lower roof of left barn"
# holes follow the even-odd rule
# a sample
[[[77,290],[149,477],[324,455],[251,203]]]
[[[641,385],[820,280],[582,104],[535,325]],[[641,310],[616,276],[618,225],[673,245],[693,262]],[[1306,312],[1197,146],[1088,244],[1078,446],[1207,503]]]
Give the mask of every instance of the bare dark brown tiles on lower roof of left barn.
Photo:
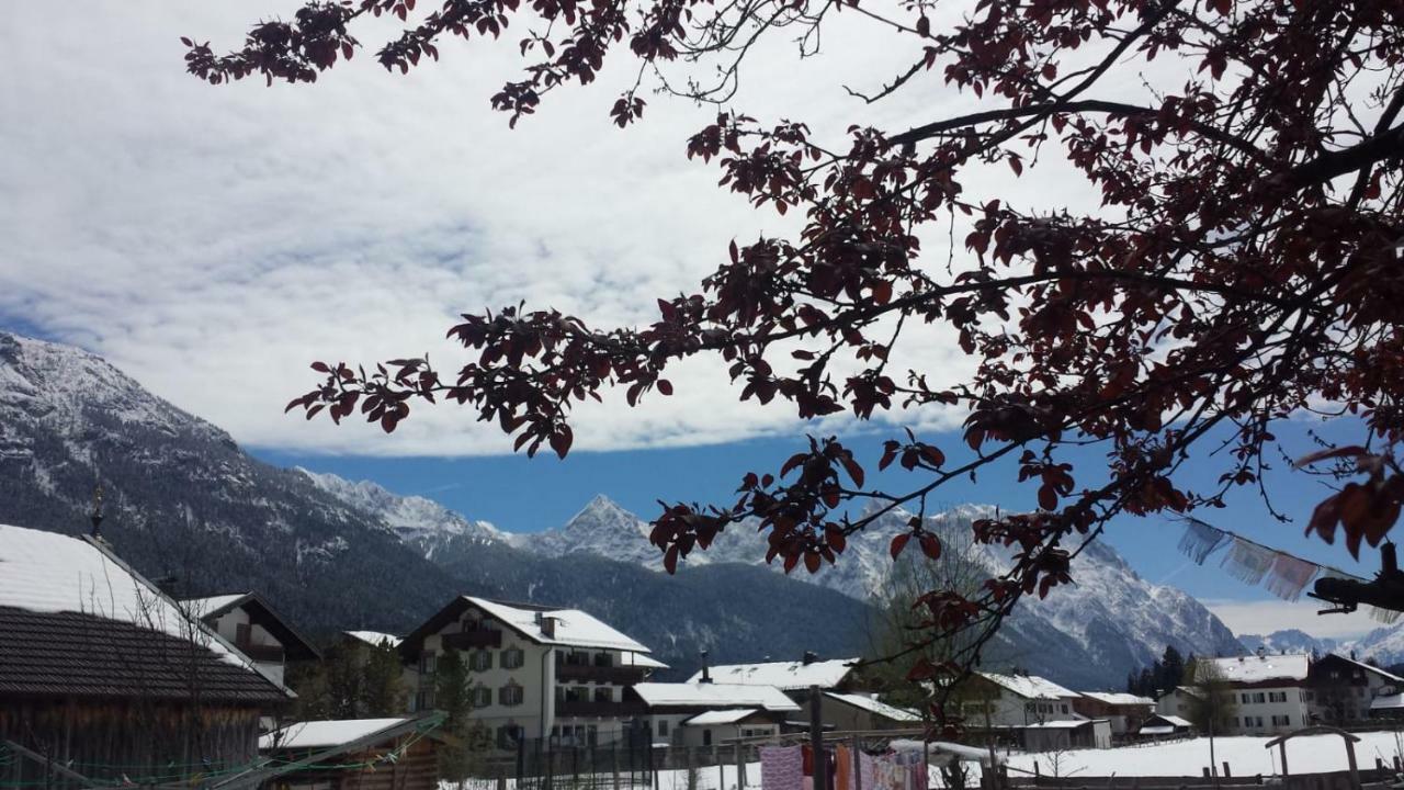
[[[263,675],[190,640],[77,611],[0,606],[0,699],[7,696],[288,699]]]

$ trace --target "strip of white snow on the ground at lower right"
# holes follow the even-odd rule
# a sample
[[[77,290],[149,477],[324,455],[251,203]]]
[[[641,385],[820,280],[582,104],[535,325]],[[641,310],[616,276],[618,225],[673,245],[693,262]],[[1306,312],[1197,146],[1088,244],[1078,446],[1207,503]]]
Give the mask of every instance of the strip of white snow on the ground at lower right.
[[[1401,752],[1404,735],[1398,732],[1358,732],[1355,759],[1360,769],[1373,769],[1375,758],[1389,765]],[[1266,749],[1271,738],[1214,738],[1214,760],[1234,776],[1279,773],[1278,748]],[[1014,769],[1033,770],[1033,763],[1045,775],[1052,775],[1053,755],[1009,755]],[[1209,766],[1209,738],[1177,741],[1158,746],[1123,746],[1119,749],[1080,749],[1061,752],[1057,758],[1060,776],[1200,776]],[[1287,741],[1289,773],[1320,773],[1345,770],[1345,742],[1339,735],[1310,735]]]

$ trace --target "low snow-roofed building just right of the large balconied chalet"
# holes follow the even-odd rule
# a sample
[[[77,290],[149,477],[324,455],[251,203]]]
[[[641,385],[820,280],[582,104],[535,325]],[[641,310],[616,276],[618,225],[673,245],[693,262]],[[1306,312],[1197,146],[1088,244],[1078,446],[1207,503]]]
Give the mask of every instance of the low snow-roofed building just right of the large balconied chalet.
[[[740,683],[637,683],[625,690],[625,700],[649,725],[654,742],[674,745],[695,741],[696,745],[710,746],[737,728],[741,737],[747,737],[747,730],[751,735],[775,735],[783,730],[788,717],[800,711],[795,700],[774,686]],[[743,710],[750,711],[744,720],[724,721],[727,717],[715,715],[689,724],[703,713]]]

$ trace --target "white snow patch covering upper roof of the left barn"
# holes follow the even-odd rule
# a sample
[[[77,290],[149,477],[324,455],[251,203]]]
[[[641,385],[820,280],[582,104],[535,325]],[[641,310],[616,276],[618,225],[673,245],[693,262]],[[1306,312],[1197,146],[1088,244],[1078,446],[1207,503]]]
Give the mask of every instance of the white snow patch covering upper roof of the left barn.
[[[180,640],[194,633],[220,659],[263,673],[115,554],[83,538],[0,524],[0,606],[74,611]]]

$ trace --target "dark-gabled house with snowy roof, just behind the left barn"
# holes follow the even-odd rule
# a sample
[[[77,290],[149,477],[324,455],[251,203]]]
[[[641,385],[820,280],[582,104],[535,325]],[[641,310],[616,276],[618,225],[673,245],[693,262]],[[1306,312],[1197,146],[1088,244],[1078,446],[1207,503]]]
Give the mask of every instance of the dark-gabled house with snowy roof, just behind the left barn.
[[[322,652],[286,623],[258,593],[233,593],[180,602],[239,652],[279,683],[288,662],[316,661]]]

